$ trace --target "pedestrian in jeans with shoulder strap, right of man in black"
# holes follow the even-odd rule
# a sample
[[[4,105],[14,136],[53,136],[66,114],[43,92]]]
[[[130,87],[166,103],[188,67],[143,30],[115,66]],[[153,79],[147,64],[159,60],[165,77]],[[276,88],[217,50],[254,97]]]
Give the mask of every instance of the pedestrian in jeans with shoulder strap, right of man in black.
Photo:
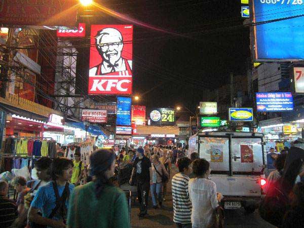
[[[164,164],[160,162],[158,155],[153,155],[151,157],[151,161],[153,163],[152,165],[153,176],[150,184],[150,189],[151,189],[153,208],[156,209],[158,208],[157,201],[159,202],[160,207],[163,206],[163,198],[162,198],[163,178],[164,176],[166,176],[168,180],[169,175]]]

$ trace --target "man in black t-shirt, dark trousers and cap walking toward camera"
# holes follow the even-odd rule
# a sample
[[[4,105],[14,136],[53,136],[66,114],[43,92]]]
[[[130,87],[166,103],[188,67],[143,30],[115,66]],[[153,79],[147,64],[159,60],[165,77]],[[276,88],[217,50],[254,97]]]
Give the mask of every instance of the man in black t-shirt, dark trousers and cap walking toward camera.
[[[143,148],[136,150],[137,158],[133,164],[132,175],[130,178],[130,184],[133,182],[133,178],[137,180],[137,197],[140,203],[139,217],[144,217],[148,212],[148,198],[150,182],[152,181],[152,168],[151,162],[144,156]]]

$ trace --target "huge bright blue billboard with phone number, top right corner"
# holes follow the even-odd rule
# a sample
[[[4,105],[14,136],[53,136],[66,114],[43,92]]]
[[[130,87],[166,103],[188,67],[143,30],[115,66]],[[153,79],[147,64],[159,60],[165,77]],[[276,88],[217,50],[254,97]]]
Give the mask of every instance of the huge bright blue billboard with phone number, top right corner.
[[[251,30],[254,60],[304,59],[304,17],[296,17],[303,14],[303,2],[302,0],[251,1],[250,18],[253,23],[257,23]],[[294,18],[288,19],[289,17]],[[272,22],[277,19],[279,20]]]

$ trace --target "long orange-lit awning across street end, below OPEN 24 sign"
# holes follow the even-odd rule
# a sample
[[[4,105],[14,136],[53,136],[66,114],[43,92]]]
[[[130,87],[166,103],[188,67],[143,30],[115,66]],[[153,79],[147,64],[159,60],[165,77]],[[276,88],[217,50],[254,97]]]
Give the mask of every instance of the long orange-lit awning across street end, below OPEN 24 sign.
[[[179,135],[179,127],[176,126],[142,126],[137,125],[138,135],[166,134]]]

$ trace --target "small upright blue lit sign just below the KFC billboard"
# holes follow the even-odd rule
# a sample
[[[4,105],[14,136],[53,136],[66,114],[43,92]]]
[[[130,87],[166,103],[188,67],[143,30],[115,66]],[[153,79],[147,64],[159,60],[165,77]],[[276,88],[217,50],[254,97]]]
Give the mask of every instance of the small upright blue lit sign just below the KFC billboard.
[[[117,97],[116,124],[131,126],[131,97]]]

